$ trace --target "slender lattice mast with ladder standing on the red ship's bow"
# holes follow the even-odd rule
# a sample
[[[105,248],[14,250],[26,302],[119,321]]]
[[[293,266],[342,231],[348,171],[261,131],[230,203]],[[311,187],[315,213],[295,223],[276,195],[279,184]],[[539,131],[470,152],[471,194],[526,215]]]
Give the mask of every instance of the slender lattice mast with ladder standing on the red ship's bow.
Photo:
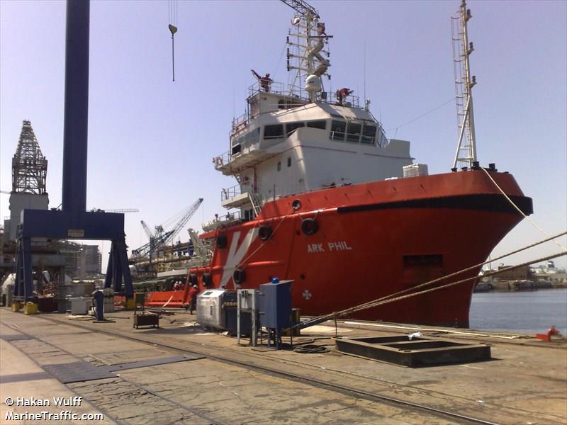
[[[468,42],[467,22],[473,16],[466,2],[461,3],[457,16],[451,16],[451,34],[453,41],[453,64],[455,72],[455,96],[457,122],[459,125],[459,142],[457,144],[453,169],[457,166],[473,167],[476,162],[476,140],[474,134],[473,94],[476,77],[471,78],[471,67],[468,57],[474,50],[473,43]]]

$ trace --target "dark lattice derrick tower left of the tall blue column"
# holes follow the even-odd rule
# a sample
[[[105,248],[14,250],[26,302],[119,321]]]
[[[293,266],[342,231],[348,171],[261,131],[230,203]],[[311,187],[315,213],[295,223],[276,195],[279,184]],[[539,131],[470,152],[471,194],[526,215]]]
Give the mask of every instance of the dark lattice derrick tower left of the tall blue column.
[[[45,195],[47,159],[41,153],[30,121],[24,120],[16,154],[12,158],[12,192]]]

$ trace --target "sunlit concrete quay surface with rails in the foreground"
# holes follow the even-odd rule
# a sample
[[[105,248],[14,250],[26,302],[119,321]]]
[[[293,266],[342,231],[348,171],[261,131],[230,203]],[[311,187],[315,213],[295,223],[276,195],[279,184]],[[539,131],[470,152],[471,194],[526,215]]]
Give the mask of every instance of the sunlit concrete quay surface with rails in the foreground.
[[[26,316],[0,309],[0,415],[7,412],[103,414],[97,424],[565,424],[567,342],[468,329],[338,322],[338,336],[421,331],[490,344],[491,361],[426,368],[335,351],[335,324],[304,329],[294,343],[327,353],[237,346],[195,326],[181,310],[158,329],[133,329],[133,312],[108,322],[67,314]],[[246,341],[246,340],[245,340]],[[284,340],[285,341],[285,340]],[[172,358],[186,356],[185,361]],[[63,383],[54,365],[108,370],[148,361],[117,376]],[[87,364],[88,363],[88,364]],[[161,363],[161,364],[151,364]],[[65,369],[65,368],[64,368]],[[72,379],[67,379],[72,380]],[[62,382],[63,381],[63,382]],[[80,406],[9,406],[11,397],[83,397]],[[77,423],[79,421],[38,421]]]

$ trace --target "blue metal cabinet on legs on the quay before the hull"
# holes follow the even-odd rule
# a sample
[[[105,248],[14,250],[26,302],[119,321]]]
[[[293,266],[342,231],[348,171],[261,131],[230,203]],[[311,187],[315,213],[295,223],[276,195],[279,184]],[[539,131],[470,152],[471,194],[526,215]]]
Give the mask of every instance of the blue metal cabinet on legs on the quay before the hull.
[[[260,326],[276,331],[278,347],[281,329],[291,326],[291,283],[293,280],[260,285]]]

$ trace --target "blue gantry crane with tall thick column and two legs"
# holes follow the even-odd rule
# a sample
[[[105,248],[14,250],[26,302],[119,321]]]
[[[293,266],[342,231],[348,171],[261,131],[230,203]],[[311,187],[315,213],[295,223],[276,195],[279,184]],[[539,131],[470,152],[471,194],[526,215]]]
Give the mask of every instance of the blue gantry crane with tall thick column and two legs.
[[[33,302],[31,239],[106,239],[112,242],[105,288],[123,293],[134,307],[128,268],[124,214],[86,211],[87,128],[89,116],[89,0],[67,0],[63,179],[61,210],[22,212],[16,246],[13,310],[37,311]]]

